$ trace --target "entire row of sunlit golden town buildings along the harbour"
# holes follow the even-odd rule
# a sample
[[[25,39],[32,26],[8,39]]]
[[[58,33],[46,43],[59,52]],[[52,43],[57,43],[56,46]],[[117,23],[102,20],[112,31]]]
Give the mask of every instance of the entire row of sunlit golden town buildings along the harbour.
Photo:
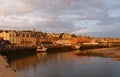
[[[0,38],[15,46],[35,47],[39,43],[45,44],[81,44],[89,42],[120,43],[120,38],[91,38],[65,33],[43,33],[33,31],[0,30]]]

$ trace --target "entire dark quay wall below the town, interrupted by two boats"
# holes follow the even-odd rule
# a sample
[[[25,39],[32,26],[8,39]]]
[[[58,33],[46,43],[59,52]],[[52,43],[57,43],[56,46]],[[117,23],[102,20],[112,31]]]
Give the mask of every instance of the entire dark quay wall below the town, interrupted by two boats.
[[[97,48],[110,48],[110,47],[118,47],[119,44],[114,45],[104,45],[104,44],[97,44],[97,45],[81,45],[80,50],[86,49],[97,49]],[[72,46],[64,46],[64,45],[56,45],[56,46],[48,46],[47,52],[64,52],[64,51],[72,51],[74,50]],[[0,54],[6,55],[7,57],[10,55],[19,55],[19,54],[28,54],[28,53],[36,53],[35,47],[25,47],[25,48],[1,48]]]

